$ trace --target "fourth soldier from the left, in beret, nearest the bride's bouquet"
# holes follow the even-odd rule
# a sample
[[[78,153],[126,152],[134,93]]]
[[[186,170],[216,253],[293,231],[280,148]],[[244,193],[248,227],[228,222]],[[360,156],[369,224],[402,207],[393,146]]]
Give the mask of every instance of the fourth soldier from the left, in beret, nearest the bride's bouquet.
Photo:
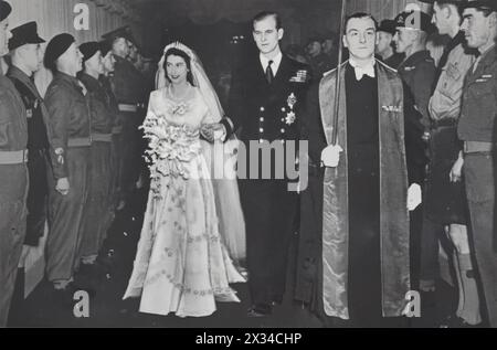
[[[87,42],[80,46],[84,71],[80,81],[85,85],[92,118],[92,148],[88,200],[83,218],[81,247],[84,267],[95,266],[104,243],[110,215],[110,151],[113,141],[113,114],[108,108],[104,86],[98,81],[104,74],[101,45]],[[91,271],[87,271],[91,273]]]

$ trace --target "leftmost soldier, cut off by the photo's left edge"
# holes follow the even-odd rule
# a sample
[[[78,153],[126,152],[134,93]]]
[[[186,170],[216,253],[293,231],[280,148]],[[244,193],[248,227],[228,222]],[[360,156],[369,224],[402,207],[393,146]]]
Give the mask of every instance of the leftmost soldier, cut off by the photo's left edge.
[[[9,53],[10,4],[0,1],[0,56]],[[0,327],[7,326],[25,235],[27,110],[12,82],[0,74]]]

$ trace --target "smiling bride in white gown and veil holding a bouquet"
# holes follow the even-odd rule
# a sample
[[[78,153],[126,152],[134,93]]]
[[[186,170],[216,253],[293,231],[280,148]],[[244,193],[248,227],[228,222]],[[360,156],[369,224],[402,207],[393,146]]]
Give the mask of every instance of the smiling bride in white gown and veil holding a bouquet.
[[[163,87],[151,93],[142,125],[150,193],[124,298],[141,296],[141,312],[203,317],[215,301],[240,301],[229,284],[245,279],[225,242],[243,242],[236,254],[244,255],[243,215],[236,180],[211,180],[210,146],[200,130],[219,121],[222,108],[197,55],[173,43],[159,67]],[[216,198],[216,187],[229,195]]]

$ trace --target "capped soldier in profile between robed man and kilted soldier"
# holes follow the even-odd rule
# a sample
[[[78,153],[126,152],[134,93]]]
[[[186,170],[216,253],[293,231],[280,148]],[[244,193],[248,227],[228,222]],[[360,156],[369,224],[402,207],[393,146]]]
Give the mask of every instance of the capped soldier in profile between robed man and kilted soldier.
[[[395,18],[393,36],[396,52],[406,56],[398,67],[399,74],[412,93],[426,131],[430,129],[427,105],[436,71],[435,61],[426,50],[427,35],[434,31],[431,21],[430,15],[421,11],[402,12]]]

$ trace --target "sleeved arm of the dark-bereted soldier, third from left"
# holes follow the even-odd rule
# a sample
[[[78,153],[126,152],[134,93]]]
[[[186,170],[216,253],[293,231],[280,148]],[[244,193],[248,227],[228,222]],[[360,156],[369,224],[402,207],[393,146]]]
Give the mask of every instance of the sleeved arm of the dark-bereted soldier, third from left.
[[[45,98],[49,110],[50,153],[55,179],[68,177],[67,151],[67,119],[71,110],[71,95],[63,88],[52,88]]]

